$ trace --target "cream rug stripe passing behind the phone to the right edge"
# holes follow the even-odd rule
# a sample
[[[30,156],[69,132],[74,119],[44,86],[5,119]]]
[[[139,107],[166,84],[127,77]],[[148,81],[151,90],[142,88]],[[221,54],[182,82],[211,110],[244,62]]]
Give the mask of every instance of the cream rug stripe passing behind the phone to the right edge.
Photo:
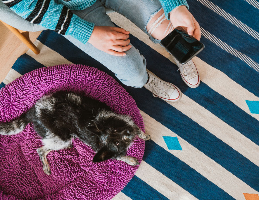
[[[129,30],[132,35],[134,35],[142,42],[149,45],[151,48],[156,50],[161,55],[168,58],[171,62],[175,63],[173,57],[165,50],[165,48],[163,48],[159,44],[154,44],[152,41],[150,41],[149,36],[147,36],[141,29],[135,26],[127,18],[115,12],[110,13],[109,16],[111,17],[112,21],[115,22],[118,26],[122,28],[127,27],[127,30]],[[196,63],[196,66],[198,68],[198,71],[203,83],[211,87],[213,90],[215,90],[222,96],[226,97],[229,101],[232,101],[234,104],[236,104],[239,108],[244,110],[249,115],[259,120],[258,114],[250,113],[250,110],[245,101],[245,100],[258,101],[259,100],[258,97],[256,97],[254,94],[246,90],[244,87],[236,83],[231,78],[229,78],[222,71],[210,66],[209,64],[202,61],[198,57],[194,57],[193,61]]]

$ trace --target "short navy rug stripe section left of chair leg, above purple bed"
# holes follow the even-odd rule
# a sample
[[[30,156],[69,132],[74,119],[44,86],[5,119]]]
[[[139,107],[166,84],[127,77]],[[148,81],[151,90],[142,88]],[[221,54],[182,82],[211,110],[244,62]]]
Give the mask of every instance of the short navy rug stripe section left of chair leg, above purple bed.
[[[27,54],[21,55],[13,64],[12,69],[20,74],[25,74],[34,69],[45,67]]]

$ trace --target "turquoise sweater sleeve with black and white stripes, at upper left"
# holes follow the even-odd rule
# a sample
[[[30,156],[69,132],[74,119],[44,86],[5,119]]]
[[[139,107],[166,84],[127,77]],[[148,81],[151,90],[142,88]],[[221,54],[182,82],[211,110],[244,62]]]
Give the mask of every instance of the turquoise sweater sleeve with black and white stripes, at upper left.
[[[11,10],[27,21],[39,24],[62,35],[71,35],[87,43],[94,23],[87,22],[54,0],[2,0]]]

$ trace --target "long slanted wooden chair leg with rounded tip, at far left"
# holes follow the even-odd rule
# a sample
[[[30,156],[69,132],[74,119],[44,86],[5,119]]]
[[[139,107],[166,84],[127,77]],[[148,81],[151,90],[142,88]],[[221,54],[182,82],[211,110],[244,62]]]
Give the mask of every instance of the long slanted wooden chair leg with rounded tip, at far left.
[[[1,20],[0,20],[1,21]],[[25,45],[27,45],[27,47],[29,47],[35,54],[39,54],[39,49],[32,43],[32,41],[30,41],[29,37],[27,35],[29,35],[29,33],[27,32],[23,32],[20,33],[20,31],[18,31],[18,29],[6,24],[5,22],[1,21],[10,31],[13,32],[13,34],[15,34],[23,43],[25,43]]]

